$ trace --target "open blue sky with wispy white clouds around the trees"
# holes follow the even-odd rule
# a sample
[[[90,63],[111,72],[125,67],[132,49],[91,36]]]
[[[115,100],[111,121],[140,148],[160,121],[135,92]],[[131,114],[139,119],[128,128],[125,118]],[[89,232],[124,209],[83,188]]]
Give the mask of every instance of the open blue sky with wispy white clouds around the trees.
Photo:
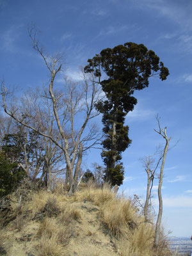
[[[188,237],[192,234],[191,13],[190,0],[0,0],[0,77],[7,86],[25,90],[47,82],[47,70],[29,40],[31,22],[42,31],[40,41],[49,54],[63,53],[65,74],[73,79],[79,79],[78,68],[88,58],[125,42],[144,44],[169,68],[166,81],[152,78],[148,88],[134,93],[138,104],[126,117],[132,144],[123,154],[122,189],[145,198],[147,177],[140,158],[164,145],[154,132],[159,113],[162,127],[166,125],[172,136],[171,146],[179,140],[164,167],[163,223],[173,236]],[[93,162],[102,164],[98,150],[84,158],[84,168]]]

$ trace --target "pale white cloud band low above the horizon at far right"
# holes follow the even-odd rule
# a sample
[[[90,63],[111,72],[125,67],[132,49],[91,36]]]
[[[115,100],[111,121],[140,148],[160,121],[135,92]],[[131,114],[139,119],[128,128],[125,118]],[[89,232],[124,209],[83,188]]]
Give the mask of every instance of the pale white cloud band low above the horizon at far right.
[[[154,204],[158,205],[158,198],[154,199]],[[170,196],[163,197],[165,207],[192,207],[192,197],[189,196]]]

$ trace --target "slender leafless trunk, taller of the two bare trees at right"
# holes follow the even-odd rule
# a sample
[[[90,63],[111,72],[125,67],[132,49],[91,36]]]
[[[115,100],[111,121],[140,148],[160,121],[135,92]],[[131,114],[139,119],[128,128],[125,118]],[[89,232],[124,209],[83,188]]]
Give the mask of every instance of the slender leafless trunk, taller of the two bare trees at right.
[[[161,218],[162,218],[162,214],[163,214],[163,200],[162,200],[162,195],[161,195],[161,188],[162,188],[162,184],[163,184],[163,169],[164,169],[164,162],[166,159],[166,153],[168,151],[171,137],[168,138],[168,136],[166,134],[166,127],[164,127],[164,129],[161,128],[160,122],[159,122],[160,118],[158,117],[158,115],[156,116],[156,119],[157,119],[157,123],[159,126],[159,130],[157,131],[156,129],[154,129],[154,131],[156,131],[158,134],[160,134],[166,141],[164,150],[163,150],[163,157],[162,157],[162,162],[161,162],[161,170],[160,170],[159,185],[158,185],[159,212],[158,212],[158,216],[157,216],[156,233],[155,233],[155,241],[154,241],[155,246],[158,246],[159,236],[160,236],[160,232],[161,232]]]

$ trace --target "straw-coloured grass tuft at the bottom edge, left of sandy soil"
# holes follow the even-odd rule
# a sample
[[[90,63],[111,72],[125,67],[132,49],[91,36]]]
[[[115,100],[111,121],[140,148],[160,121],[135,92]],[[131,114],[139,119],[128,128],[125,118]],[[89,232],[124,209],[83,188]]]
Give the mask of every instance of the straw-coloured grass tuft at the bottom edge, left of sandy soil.
[[[58,244],[57,237],[48,238],[45,234],[40,239],[38,256],[61,256],[63,248]]]

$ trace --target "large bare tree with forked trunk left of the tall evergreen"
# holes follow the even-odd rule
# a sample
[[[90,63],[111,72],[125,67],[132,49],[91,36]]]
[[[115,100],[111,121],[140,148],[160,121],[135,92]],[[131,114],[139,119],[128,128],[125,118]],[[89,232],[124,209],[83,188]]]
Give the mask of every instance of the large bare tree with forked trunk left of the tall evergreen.
[[[29,30],[29,36],[33,42],[33,48],[42,56],[45,66],[51,75],[49,82],[49,97],[51,100],[54,118],[57,129],[60,132],[61,141],[58,141],[52,134],[47,134],[40,127],[34,127],[28,122],[28,116],[19,113],[18,109],[12,111],[6,104],[6,87],[1,84],[4,111],[12,116],[20,124],[32,129],[38,134],[50,139],[59,147],[65,156],[67,164],[68,180],[70,184],[69,194],[77,190],[79,170],[83,152],[91,147],[95,147],[100,141],[99,132],[95,125],[90,121],[99,113],[94,111],[95,103],[99,100],[101,92],[99,84],[94,82],[94,77],[83,74],[83,82],[74,84],[65,81],[64,93],[54,91],[54,81],[57,74],[61,71],[61,56],[57,54],[54,58],[47,57],[36,40],[36,30]],[[29,118],[30,119],[30,118]],[[76,121],[76,129],[75,129]],[[90,126],[88,126],[88,123]]]

